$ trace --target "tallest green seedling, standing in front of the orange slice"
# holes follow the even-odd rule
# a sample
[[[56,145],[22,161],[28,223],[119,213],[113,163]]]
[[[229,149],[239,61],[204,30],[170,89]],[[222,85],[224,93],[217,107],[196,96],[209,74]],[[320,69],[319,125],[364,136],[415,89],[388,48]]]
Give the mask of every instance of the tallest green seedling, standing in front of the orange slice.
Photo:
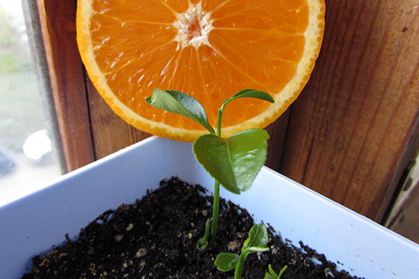
[[[253,89],[242,90],[223,102],[218,110],[217,127],[214,130],[208,122],[203,105],[186,93],[154,89],[153,96],[146,98],[149,105],[186,116],[200,123],[209,132],[198,137],[193,143],[193,153],[198,163],[203,165],[215,179],[211,230],[210,223],[207,222],[206,234],[198,241],[200,248],[207,246],[209,233],[213,241],[216,237],[220,183],[224,188],[236,194],[249,190],[266,161],[269,135],[265,130],[249,129],[230,137],[221,137],[223,111],[228,103],[237,98],[258,98],[274,103],[274,99],[266,92]]]

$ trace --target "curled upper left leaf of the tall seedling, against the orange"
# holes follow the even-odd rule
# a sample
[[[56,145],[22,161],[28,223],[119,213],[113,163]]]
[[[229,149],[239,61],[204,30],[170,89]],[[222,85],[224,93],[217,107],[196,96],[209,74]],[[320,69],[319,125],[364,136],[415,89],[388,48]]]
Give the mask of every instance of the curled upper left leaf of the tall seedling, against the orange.
[[[188,117],[200,123],[210,133],[215,134],[214,129],[208,123],[207,113],[204,107],[192,96],[181,91],[154,89],[153,96],[145,101],[161,110],[173,112]]]

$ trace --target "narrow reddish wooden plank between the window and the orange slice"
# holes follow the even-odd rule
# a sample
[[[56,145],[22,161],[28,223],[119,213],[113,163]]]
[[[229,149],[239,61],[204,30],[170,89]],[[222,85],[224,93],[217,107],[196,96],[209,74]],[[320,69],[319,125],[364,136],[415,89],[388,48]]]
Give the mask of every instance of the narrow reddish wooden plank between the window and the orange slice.
[[[75,32],[76,1],[38,0],[66,167],[94,161],[84,72]]]

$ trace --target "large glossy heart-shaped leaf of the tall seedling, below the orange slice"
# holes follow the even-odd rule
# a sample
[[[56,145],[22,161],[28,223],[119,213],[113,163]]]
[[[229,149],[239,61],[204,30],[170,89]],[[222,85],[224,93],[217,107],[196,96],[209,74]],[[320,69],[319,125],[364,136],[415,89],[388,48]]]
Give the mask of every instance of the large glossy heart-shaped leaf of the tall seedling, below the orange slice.
[[[249,129],[227,137],[202,135],[193,144],[196,160],[230,192],[240,194],[251,187],[266,161],[269,135]]]

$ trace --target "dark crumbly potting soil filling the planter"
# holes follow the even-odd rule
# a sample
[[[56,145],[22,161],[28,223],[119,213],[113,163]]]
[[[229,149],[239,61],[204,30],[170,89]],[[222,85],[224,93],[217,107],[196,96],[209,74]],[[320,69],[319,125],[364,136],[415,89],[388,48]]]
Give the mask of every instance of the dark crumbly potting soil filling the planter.
[[[196,248],[212,214],[212,197],[203,192],[201,186],[165,179],[136,204],[103,213],[82,229],[78,241],[68,239],[47,256],[34,257],[31,273],[23,278],[233,279],[234,271],[219,271],[214,259],[221,252],[240,253],[253,219],[245,209],[221,199],[216,243],[205,250]],[[335,271],[335,264],[315,250],[283,243],[272,227],[268,232],[270,250],[249,255],[243,278],[263,279],[268,264],[277,273],[288,265],[281,279],[353,278]]]

